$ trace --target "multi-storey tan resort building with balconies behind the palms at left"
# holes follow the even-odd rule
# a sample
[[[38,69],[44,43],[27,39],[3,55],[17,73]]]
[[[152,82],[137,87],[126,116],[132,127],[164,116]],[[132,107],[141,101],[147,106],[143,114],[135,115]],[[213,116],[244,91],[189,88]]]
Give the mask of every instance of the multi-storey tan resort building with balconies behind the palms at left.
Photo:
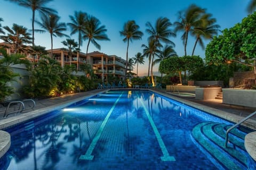
[[[7,54],[14,53],[13,47],[10,44],[0,43],[0,47],[4,47]],[[29,46],[28,49],[30,49]],[[50,56],[51,49],[47,50],[47,52]],[[118,77],[119,80],[124,80],[126,60],[116,55],[107,55],[98,51],[88,53],[87,57],[83,52],[79,52],[79,56],[77,53],[71,53],[69,55],[69,51],[65,48],[53,49],[52,53],[53,59],[58,61],[62,67],[67,64],[73,64],[77,67],[77,70],[82,73],[85,68],[85,64],[90,64],[94,74],[97,75],[98,79],[102,79],[102,82],[108,81],[109,76]],[[21,54],[25,55],[31,62],[37,62],[39,59],[39,56],[31,55],[29,50],[28,52]],[[127,72],[132,70],[132,65],[128,63]]]

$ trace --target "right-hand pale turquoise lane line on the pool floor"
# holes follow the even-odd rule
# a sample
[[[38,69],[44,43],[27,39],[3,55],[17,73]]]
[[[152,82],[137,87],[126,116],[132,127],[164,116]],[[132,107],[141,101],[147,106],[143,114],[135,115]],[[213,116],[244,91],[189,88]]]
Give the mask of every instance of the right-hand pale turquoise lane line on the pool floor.
[[[169,155],[169,152],[167,151],[167,149],[166,149],[166,147],[165,147],[165,145],[164,145],[164,141],[163,141],[163,139],[162,139],[160,133],[158,132],[158,130],[157,130],[157,128],[156,128],[156,125],[155,125],[155,123],[154,123],[152,117],[150,116],[150,114],[149,114],[149,112],[148,112],[146,106],[143,104],[143,101],[141,100],[141,98],[139,97],[139,95],[138,95],[137,92],[136,92],[136,94],[137,94],[137,97],[140,99],[140,103],[141,103],[141,105],[143,106],[143,108],[144,108],[144,110],[145,110],[145,112],[146,112],[146,114],[147,114],[147,116],[148,116],[148,120],[149,120],[149,122],[150,122],[150,124],[151,124],[151,126],[152,126],[152,128],[153,128],[153,130],[154,130],[154,133],[155,133],[155,135],[156,135],[156,139],[157,139],[157,141],[158,141],[158,143],[159,143],[159,146],[160,146],[160,148],[161,148],[161,150],[162,150],[162,152],[163,152],[163,155],[164,155],[164,156],[161,157],[162,161],[175,161],[175,158],[174,158],[173,156],[170,156],[170,155]]]

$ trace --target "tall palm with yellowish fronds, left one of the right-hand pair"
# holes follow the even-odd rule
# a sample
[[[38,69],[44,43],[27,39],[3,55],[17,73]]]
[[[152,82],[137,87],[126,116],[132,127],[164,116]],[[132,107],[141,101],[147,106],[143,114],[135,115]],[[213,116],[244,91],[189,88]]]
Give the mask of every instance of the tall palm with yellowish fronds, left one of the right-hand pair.
[[[194,27],[202,24],[201,15],[205,12],[204,9],[194,4],[190,5],[185,11],[179,12],[179,22],[174,22],[175,32],[183,31],[181,39],[184,43],[185,56],[187,55],[188,33]]]

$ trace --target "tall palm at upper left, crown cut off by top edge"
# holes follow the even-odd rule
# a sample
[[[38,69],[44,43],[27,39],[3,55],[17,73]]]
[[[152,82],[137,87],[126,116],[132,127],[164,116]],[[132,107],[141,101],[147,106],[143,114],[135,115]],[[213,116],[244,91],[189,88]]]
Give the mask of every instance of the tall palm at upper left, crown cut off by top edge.
[[[20,6],[24,6],[30,8],[32,10],[32,45],[34,46],[35,43],[35,12],[39,11],[41,14],[53,14],[57,13],[57,11],[53,10],[52,8],[45,7],[45,4],[53,1],[53,0],[9,0],[11,2],[18,3]]]

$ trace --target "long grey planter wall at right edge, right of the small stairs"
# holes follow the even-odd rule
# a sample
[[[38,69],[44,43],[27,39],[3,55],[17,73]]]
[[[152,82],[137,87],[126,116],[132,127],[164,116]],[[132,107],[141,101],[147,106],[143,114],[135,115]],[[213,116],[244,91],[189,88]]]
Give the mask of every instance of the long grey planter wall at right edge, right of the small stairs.
[[[250,89],[222,89],[223,104],[256,107],[256,90]]]

